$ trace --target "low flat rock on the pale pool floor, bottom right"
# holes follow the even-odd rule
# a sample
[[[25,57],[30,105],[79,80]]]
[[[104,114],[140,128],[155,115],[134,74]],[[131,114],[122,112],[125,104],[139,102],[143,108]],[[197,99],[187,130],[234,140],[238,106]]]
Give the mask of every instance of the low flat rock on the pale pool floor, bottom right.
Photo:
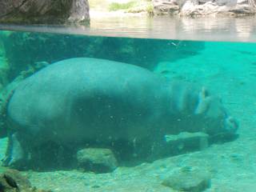
[[[200,192],[210,187],[210,174],[205,170],[184,167],[165,178],[162,185],[178,191]]]

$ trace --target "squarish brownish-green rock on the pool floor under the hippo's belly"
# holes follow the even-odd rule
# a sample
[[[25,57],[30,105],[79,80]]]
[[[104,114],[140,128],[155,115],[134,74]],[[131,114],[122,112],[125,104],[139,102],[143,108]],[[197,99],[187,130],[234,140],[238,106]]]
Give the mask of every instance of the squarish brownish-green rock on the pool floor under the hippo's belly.
[[[80,168],[97,173],[111,172],[118,166],[113,152],[109,149],[87,148],[78,150],[77,159]]]

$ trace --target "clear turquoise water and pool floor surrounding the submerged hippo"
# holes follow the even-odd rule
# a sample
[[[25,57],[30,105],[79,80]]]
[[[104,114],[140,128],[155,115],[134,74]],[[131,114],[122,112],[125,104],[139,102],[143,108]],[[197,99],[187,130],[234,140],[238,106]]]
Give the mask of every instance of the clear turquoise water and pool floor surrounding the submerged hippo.
[[[238,137],[220,138],[218,142],[210,143],[209,147],[181,150],[175,155],[170,153],[164,158],[154,159],[154,162],[137,159],[136,163],[129,163],[133,160],[118,158],[120,166],[105,174],[94,174],[69,165],[54,167],[53,165],[57,164],[43,164],[44,161],[38,160],[39,165],[35,162],[32,168],[28,168],[32,169],[30,171],[26,166],[18,168],[28,175],[34,186],[53,191],[174,191],[172,186],[162,184],[166,178],[173,177],[178,171],[203,170],[210,175],[211,185],[206,191],[254,191],[255,43],[0,31],[2,109],[11,95],[10,90],[14,90],[23,78],[66,58],[102,58],[125,62],[146,68],[170,81],[178,80],[206,86],[210,94],[222,98],[229,114],[238,119]],[[3,116],[1,118],[5,119]],[[1,127],[4,128],[6,125]],[[0,158],[4,157],[6,141],[6,138],[0,140]],[[182,145],[178,146],[178,149],[182,149]],[[54,146],[42,147],[44,146],[37,148],[39,152],[53,150],[51,148]],[[126,151],[125,148],[126,145],[118,146],[118,150]],[[43,155],[37,158],[46,158],[48,162],[51,159]],[[50,168],[47,167],[49,165]],[[1,168],[0,172],[3,170]]]

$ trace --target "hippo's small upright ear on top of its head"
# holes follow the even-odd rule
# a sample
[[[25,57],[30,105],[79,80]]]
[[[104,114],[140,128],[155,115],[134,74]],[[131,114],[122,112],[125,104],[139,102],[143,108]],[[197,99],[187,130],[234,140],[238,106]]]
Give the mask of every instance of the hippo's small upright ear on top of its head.
[[[209,92],[205,87],[198,94],[198,106],[194,110],[194,114],[203,114],[207,111],[209,107],[209,102],[211,98],[209,97]]]

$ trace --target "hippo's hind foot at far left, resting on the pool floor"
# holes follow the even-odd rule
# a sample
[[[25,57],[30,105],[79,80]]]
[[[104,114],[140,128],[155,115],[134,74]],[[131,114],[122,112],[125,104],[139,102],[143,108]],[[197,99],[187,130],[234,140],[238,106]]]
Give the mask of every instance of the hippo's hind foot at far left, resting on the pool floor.
[[[18,135],[12,134],[9,137],[9,143],[6,150],[6,157],[2,160],[3,166],[17,166],[24,159],[22,145],[18,141]]]

